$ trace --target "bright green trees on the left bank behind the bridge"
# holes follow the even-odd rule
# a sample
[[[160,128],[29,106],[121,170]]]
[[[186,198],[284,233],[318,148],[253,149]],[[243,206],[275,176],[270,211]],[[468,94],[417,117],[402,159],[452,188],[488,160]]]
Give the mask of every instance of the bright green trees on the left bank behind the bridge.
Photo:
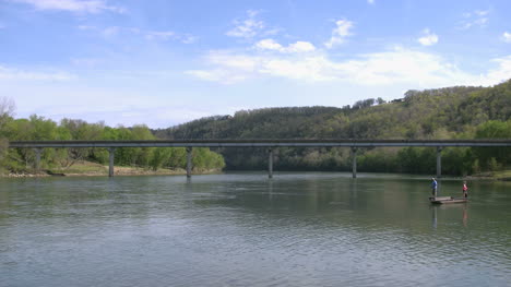
[[[63,119],[60,123],[43,117],[31,116],[28,119],[14,119],[13,103],[0,101],[0,164],[10,172],[29,171],[34,167],[35,152],[31,148],[10,148],[7,141],[44,140],[157,140],[146,125],[132,128],[110,128],[103,122],[87,123],[83,120]],[[209,148],[193,148],[193,168],[195,170],[222,169],[223,157]],[[116,148],[117,166],[141,167],[157,170],[159,168],[186,168],[185,147],[123,147]],[[88,160],[103,165],[108,163],[106,148],[44,148],[41,168],[68,168],[78,160]]]

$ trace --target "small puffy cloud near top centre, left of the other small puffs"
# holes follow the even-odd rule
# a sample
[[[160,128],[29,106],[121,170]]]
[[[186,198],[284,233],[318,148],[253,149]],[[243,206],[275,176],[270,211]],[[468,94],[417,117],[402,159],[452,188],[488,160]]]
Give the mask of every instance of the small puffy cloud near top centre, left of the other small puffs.
[[[260,11],[248,10],[246,20],[235,20],[235,27],[227,31],[225,35],[239,38],[253,38],[258,35],[275,35],[278,28],[269,28],[263,21],[258,20]]]

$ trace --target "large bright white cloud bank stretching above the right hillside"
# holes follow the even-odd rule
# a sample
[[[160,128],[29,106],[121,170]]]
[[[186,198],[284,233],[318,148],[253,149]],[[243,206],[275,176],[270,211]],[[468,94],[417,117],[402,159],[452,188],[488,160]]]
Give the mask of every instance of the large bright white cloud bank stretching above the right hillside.
[[[205,60],[211,69],[186,73],[224,84],[272,76],[305,82],[337,81],[366,86],[405,83],[424,88],[491,85],[509,79],[511,74],[511,56],[492,60],[498,67],[476,75],[460,70],[437,55],[404,48],[359,55],[344,61],[331,60],[322,52],[298,56],[246,55],[233,51],[214,51]]]

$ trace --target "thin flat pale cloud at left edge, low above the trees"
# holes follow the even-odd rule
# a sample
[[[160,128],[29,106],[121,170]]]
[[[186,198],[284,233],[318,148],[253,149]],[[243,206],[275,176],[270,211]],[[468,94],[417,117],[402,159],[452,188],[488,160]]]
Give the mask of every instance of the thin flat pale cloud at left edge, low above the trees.
[[[26,71],[0,65],[0,81],[69,81],[75,76],[62,71]]]

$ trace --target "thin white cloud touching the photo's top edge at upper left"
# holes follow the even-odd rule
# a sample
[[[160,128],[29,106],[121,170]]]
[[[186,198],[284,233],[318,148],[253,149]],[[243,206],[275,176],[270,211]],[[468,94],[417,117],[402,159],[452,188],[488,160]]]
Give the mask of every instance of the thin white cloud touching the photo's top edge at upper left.
[[[13,2],[26,3],[38,10],[61,10],[80,13],[100,13],[110,11],[116,13],[126,12],[124,8],[109,5],[104,0],[11,0]]]

